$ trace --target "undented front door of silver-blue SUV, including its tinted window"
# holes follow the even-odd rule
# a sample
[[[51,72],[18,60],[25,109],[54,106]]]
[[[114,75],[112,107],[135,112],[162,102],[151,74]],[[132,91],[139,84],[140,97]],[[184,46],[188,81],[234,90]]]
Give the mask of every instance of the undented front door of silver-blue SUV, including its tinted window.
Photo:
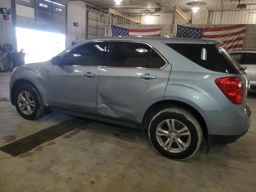
[[[104,64],[105,42],[80,45],[61,56],[48,75],[48,104],[54,108],[96,114],[98,77]]]

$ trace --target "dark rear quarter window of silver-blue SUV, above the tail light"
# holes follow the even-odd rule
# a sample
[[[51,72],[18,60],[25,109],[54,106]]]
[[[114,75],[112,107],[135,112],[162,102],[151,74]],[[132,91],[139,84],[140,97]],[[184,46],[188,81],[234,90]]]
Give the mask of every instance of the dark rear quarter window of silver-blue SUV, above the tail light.
[[[218,48],[212,44],[167,44],[196,64],[212,71],[232,73],[230,62],[224,58]]]

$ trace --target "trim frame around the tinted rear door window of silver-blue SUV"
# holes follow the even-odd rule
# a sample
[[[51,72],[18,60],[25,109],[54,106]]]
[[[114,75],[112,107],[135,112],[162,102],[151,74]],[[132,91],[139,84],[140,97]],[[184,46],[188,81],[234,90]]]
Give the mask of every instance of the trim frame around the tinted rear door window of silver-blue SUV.
[[[127,41],[127,40],[111,40],[111,42],[113,42],[112,46],[111,46],[111,51],[110,54],[108,54],[108,62],[107,62],[107,66],[103,66],[103,67],[108,67],[108,68],[127,68],[127,69],[153,69],[153,70],[162,70],[164,68],[166,68],[166,66],[169,64],[169,62],[166,60],[166,58],[164,58],[164,56],[162,56],[162,54],[160,54],[160,52],[158,52],[158,50],[156,50],[152,45],[146,43],[146,42],[140,42],[140,41]],[[141,67],[112,67],[112,66],[108,66],[109,60],[110,60],[110,56],[112,54],[112,50],[113,50],[113,46],[115,42],[131,42],[131,43],[141,43],[141,44],[146,44],[148,45],[152,50],[154,50],[158,56],[160,56],[162,58],[162,60],[164,60],[165,64],[164,66],[162,66],[161,68],[141,68]],[[150,50],[151,52],[151,50]],[[148,58],[148,61],[150,60],[150,56]]]

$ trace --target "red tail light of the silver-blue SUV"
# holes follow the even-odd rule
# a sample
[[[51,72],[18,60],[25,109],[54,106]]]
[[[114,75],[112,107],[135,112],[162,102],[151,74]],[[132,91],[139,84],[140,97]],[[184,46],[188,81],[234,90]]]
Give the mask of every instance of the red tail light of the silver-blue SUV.
[[[234,104],[242,104],[244,96],[243,82],[237,77],[223,77],[215,80],[216,85]]]

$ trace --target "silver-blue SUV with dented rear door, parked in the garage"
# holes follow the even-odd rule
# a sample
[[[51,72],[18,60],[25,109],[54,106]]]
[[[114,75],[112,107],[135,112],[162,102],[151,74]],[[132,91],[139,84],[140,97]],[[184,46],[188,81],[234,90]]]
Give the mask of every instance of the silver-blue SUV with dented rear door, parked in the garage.
[[[46,110],[147,129],[163,156],[186,159],[202,138],[246,133],[248,78],[218,42],[109,37],[82,41],[52,60],[14,69],[10,97],[29,120]]]

